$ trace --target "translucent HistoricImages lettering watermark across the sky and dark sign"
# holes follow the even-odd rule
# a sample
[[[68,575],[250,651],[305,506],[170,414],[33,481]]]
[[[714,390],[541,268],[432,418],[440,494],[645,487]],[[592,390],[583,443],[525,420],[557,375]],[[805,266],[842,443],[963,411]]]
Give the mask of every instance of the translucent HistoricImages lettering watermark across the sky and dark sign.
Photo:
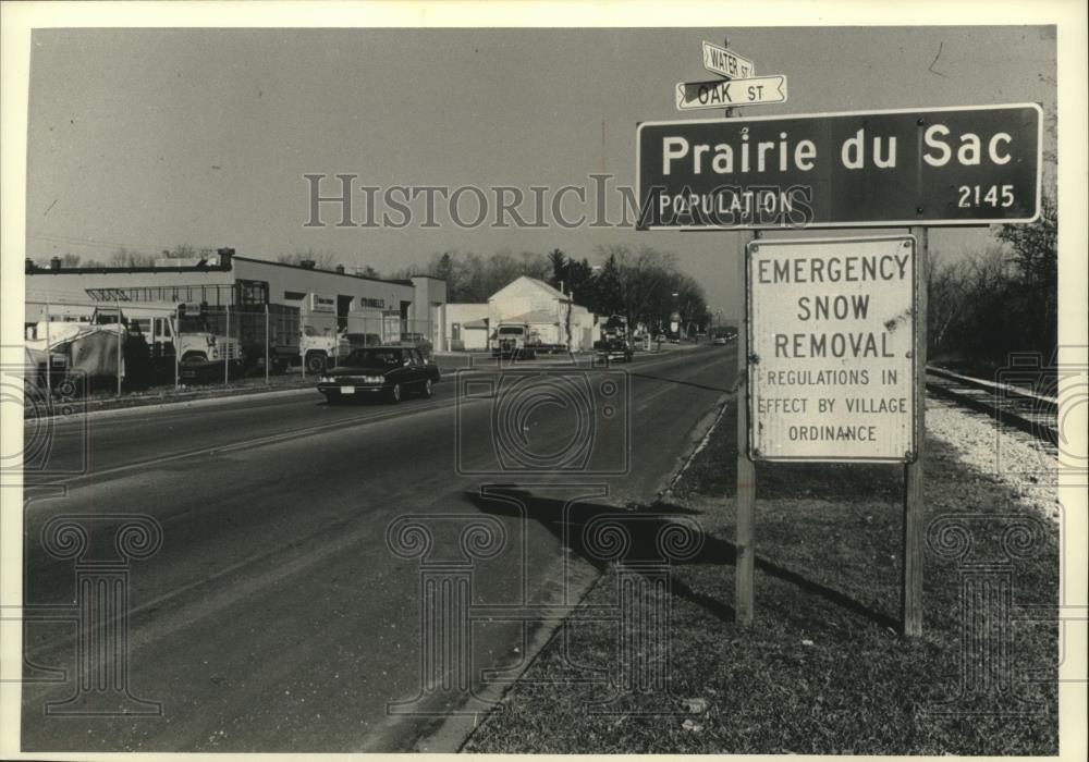
[[[723,184],[710,192],[650,188],[654,206],[612,174],[559,187],[530,185],[366,185],[355,173],[308,173],[304,228],[453,226],[463,230],[644,228],[669,214],[695,226],[805,228],[813,219],[808,185]]]

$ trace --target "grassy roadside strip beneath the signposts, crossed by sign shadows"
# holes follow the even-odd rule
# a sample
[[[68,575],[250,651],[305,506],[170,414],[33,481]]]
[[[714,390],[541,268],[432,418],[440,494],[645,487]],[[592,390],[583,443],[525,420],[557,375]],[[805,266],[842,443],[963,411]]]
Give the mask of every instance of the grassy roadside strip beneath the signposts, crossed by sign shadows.
[[[595,606],[614,607],[638,573],[629,554],[609,567],[466,750],[1057,753],[1056,626],[1024,620],[1028,606],[1056,602],[1057,530],[1041,521],[1035,555],[1008,567],[1014,624],[968,624],[974,652],[991,649],[972,659],[962,653],[964,568],[929,549],[925,636],[897,635],[900,467],[761,466],[757,619],[742,629],[732,610],[735,428],[727,411],[670,504],[644,512],[663,520],[688,514],[703,532],[701,552],[673,565],[666,589],[638,606],[641,622],[669,611],[668,653],[640,638],[646,627],[617,638],[615,622],[591,618]],[[986,515],[969,525],[968,560],[1006,557],[1003,531],[1037,515],[941,441],[931,438],[928,448],[929,517]],[[987,611],[1000,620],[995,606]],[[1004,659],[994,651],[1003,643]],[[651,680],[624,690],[640,660],[665,665],[664,687]]]

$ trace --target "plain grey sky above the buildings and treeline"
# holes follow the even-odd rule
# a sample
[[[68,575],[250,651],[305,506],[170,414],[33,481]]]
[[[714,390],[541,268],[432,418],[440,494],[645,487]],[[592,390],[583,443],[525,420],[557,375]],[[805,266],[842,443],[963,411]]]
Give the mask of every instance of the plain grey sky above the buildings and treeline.
[[[511,185],[527,196],[531,186],[591,187],[598,172],[634,185],[638,122],[721,113],[681,114],[673,93],[677,82],[714,78],[700,42],[724,38],[758,75],[788,82],[786,103],[743,115],[1030,101],[1054,113],[1045,26],[36,30],[27,256],[102,260],[119,246],[191,244],[274,258],[313,248],[390,272],[450,249],[559,247],[592,260],[599,245],[645,244],[676,253],[710,306],[736,316],[736,233],[426,229],[418,218],[403,230],[342,229],[328,207],[330,224],[307,228],[303,177]],[[943,258],[993,243],[987,229],[930,236]]]

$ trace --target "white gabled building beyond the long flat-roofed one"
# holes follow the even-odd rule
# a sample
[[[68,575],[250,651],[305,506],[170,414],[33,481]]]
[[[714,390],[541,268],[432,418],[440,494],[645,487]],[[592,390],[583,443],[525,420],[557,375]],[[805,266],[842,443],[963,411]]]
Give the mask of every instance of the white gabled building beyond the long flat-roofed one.
[[[542,344],[573,352],[591,349],[598,337],[592,312],[575,304],[570,294],[527,275],[497,291],[487,304],[452,304],[443,311],[446,328],[441,348],[485,349],[501,322],[527,324]]]

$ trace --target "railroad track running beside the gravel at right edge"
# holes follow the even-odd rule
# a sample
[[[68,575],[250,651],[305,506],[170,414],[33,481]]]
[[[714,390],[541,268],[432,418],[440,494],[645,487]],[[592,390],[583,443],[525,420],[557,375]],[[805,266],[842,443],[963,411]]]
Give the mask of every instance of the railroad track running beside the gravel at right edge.
[[[1059,401],[1026,389],[927,366],[927,391],[1059,445]]]

